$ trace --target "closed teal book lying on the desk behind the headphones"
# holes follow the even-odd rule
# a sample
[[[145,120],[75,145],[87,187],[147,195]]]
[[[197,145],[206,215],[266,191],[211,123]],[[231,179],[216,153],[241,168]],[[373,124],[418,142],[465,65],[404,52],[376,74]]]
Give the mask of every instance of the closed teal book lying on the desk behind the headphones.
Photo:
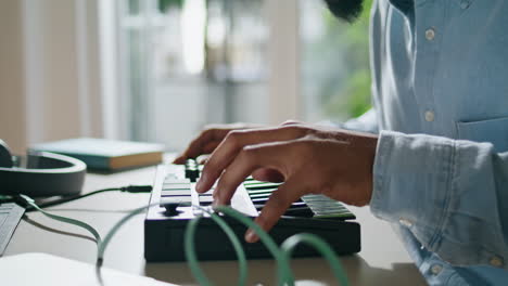
[[[105,171],[156,165],[164,155],[162,144],[94,138],[47,142],[29,150],[67,155],[82,160],[89,169]]]

